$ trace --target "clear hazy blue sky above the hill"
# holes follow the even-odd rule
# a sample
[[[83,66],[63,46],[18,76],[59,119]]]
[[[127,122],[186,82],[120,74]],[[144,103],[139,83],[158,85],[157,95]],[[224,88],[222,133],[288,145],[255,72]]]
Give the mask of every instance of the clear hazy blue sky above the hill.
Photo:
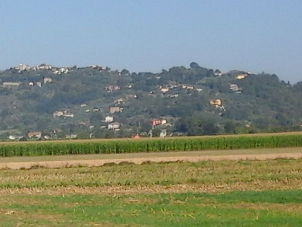
[[[302,81],[302,1],[1,0],[0,69],[189,64]]]

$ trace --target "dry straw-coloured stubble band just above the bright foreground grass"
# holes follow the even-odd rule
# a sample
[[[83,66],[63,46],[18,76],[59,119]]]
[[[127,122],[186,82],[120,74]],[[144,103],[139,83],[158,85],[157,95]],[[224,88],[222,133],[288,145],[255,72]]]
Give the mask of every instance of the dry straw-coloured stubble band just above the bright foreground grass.
[[[287,189],[302,189],[301,180],[284,181],[252,181],[245,183],[233,184],[175,184],[170,186],[150,185],[150,186],[104,186],[104,187],[52,187],[52,188],[4,188],[0,189],[0,194],[24,194],[24,195],[70,195],[70,194],[85,194],[85,195],[135,195],[135,194],[160,194],[160,193],[185,193],[185,192],[209,192],[222,193],[230,191],[248,191],[248,190],[287,190]]]

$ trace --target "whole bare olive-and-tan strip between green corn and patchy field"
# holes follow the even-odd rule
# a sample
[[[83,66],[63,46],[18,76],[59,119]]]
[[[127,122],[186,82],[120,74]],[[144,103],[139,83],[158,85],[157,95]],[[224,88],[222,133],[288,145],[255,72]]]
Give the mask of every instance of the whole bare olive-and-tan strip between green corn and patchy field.
[[[275,152],[274,152],[275,150]],[[295,152],[290,152],[291,150]],[[118,155],[98,155],[98,156],[73,156],[76,160],[72,160],[72,156],[69,156],[69,160],[38,160],[38,161],[22,161],[23,157],[19,157],[18,161],[14,159],[2,158],[0,160],[0,169],[29,169],[34,166],[40,166],[45,168],[63,168],[63,167],[77,167],[77,166],[103,166],[105,164],[114,163],[133,163],[141,165],[142,163],[162,163],[162,162],[201,162],[209,160],[272,160],[277,158],[283,159],[300,159],[302,158],[302,149],[262,149],[262,150],[242,150],[240,151],[226,151],[225,155],[221,155],[221,151],[206,152],[206,151],[193,151],[193,152],[171,152],[171,153],[144,153],[137,154],[122,154]],[[258,151],[258,152],[257,152]],[[284,151],[284,152],[282,152]],[[251,153],[254,152],[254,153]],[[53,156],[50,156],[53,157]],[[57,156],[56,156],[57,157]],[[60,156],[64,157],[64,156]],[[118,158],[117,158],[118,157]],[[15,157],[17,159],[18,157]],[[27,160],[31,157],[26,157]],[[65,156],[66,158],[66,156]],[[91,159],[94,158],[94,159]]]

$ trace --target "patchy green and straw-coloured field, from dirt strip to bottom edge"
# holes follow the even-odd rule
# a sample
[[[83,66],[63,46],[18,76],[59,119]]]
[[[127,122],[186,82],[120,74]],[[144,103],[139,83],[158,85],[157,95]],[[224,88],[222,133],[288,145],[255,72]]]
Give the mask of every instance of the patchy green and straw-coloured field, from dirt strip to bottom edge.
[[[0,226],[301,226],[302,160],[0,170]]]

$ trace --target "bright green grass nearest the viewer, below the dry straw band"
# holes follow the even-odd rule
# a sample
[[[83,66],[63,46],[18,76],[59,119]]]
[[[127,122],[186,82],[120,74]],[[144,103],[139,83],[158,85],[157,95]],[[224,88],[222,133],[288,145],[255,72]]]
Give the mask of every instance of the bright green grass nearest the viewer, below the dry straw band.
[[[102,196],[3,196],[11,226],[301,226],[302,190]]]

